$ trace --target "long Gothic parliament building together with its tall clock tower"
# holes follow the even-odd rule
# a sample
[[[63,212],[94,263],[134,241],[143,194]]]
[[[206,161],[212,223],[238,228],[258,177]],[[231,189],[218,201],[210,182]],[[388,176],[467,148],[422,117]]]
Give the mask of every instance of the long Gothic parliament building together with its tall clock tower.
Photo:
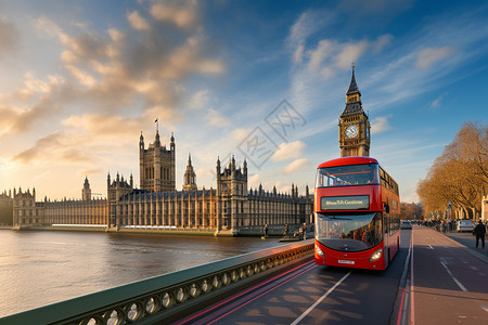
[[[370,121],[362,109],[352,65],[346,94],[346,107],[339,119],[341,156],[368,156]],[[215,166],[216,187],[196,184],[191,156],[188,157],[181,191],[176,188],[176,141],[171,134],[168,146],[160,142],[158,130],[147,146],[139,138],[139,179],[110,173],[106,198],[92,198],[88,178],[80,199],[36,202],[36,191],[22,188],[0,194],[0,206],[10,203],[13,227],[85,226],[108,231],[152,230],[160,232],[201,231],[216,235],[242,235],[259,231],[265,224],[282,226],[309,222],[313,194],[292,184],[290,193],[248,187],[247,162],[237,166],[232,156],[229,164]]]

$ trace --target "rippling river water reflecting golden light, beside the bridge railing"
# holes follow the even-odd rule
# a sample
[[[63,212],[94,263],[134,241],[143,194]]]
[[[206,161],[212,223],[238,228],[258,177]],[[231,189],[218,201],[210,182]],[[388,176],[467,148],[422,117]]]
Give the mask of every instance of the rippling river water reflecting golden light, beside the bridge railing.
[[[258,237],[0,230],[0,317],[279,245]]]

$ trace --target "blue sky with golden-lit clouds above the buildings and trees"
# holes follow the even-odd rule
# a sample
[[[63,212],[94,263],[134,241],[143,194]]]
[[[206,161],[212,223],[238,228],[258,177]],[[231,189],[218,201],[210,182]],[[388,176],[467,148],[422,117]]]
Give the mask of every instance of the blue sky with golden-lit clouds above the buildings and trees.
[[[198,187],[234,155],[251,187],[303,193],[339,156],[355,61],[371,156],[416,202],[462,123],[486,123],[487,16],[487,1],[0,0],[0,190],[79,198],[87,176],[105,195],[117,171],[139,184],[157,118],[178,188],[191,153]]]

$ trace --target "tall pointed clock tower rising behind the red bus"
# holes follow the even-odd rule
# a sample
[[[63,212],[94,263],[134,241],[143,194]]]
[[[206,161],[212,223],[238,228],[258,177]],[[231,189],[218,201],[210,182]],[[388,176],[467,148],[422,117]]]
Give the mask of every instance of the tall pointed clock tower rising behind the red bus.
[[[362,110],[361,92],[355,77],[352,62],[352,77],[346,93],[346,108],[339,120],[341,157],[370,155],[370,119]]]

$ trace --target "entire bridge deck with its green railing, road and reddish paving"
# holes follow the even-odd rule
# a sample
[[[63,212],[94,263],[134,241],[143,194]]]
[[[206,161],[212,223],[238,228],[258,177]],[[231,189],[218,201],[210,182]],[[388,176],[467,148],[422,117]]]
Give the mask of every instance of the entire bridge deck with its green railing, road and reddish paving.
[[[414,226],[385,271],[319,266],[313,239],[164,274],[0,324],[488,324],[471,234]],[[22,303],[22,302],[20,302]]]

